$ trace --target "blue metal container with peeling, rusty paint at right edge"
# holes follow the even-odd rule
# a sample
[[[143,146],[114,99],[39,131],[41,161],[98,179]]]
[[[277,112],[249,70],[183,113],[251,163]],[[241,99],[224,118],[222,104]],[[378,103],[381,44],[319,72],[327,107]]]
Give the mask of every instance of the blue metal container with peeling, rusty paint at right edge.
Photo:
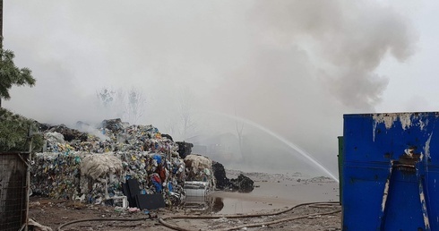
[[[439,230],[439,112],[344,115],[343,130],[342,230]]]

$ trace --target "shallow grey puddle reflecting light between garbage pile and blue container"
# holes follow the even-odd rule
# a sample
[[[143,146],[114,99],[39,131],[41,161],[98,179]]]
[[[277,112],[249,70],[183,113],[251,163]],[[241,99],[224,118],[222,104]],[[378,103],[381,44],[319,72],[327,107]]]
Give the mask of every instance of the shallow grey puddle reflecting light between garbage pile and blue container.
[[[338,184],[258,183],[252,193],[216,191],[205,197],[187,197],[185,210],[198,214],[245,214],[275,210],[310,201],[338,200]]]

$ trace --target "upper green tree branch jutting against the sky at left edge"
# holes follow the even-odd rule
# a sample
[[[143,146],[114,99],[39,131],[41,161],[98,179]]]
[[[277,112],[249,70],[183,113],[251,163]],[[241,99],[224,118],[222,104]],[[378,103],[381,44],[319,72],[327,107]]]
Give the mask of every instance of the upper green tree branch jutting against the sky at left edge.
[[[9,90],[13,85],[35,85],[35,79],[29,68],[18,68],[13,64],[13,51],[0,49],[0,99],[9,99]]]

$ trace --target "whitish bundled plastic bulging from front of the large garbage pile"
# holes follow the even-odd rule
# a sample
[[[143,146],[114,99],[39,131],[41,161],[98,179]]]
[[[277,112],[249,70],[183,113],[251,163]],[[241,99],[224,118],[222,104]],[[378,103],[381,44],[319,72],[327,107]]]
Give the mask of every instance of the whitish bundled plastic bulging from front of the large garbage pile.
[[[93,180],[104,175],[120,174],[123,170],[122,160],[113,153],[91,154],[82,158],[81,175],[90,176]]]

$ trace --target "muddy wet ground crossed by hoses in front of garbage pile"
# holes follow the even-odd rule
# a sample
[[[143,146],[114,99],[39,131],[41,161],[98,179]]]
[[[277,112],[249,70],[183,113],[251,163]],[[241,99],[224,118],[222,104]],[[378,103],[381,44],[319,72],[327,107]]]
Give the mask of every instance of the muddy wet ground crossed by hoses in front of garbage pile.
[[[239,174],[228,171],[228,177]],[[215,192],[206,201],[197,201],[201,207],[168,208],[130,212],[115,210],[103,205],[86,205],[73,201],[57,201],[41,197],[31,197],[30,218],[41,225],[57,227],[79,219],[98,218],[63,227],[62,230],[173,230],[164,227],[159,218],[168,225],[186,230],[340,230],[340,205],[338,204],[338,184],[325,177],[306,179],[299,174],[269,175],[247,173],[254,180],[252,193]],[[313,201],[332,203],[298,204]],[[189,203],[187,203],[189,204]],[[285,211],[288,210],[288,211]],[[281,212],[284,211],[284,212]],[[274,215],[273,213],[279,214]],[[242,214],[261,214],[253,218],[230,218]],[[186,216],[185,218],[172,218]],[[194,218],[187,218],[194,217]],[[204,218],[204,217],[208,218]],[[201,218],[203,217],[203,218]],[[139,219],[135,221],[102,219]],[[276,224],[271,222],[283,221]],[[257,227],[251,227],[256,224]]]

